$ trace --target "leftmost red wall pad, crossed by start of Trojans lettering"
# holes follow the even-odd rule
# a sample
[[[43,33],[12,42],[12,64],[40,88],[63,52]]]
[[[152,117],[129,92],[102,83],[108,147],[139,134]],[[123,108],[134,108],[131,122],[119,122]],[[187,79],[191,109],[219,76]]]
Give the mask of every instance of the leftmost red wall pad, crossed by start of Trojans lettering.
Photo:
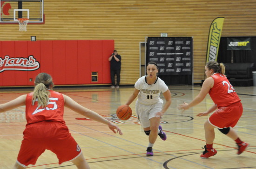
[[[2,56],[9,56],[9,58],[14,57],[15,43],[14,41],[2,41]],[[5,70],[2,73],[2,85],[3,86],[15,86],[15,71]]]

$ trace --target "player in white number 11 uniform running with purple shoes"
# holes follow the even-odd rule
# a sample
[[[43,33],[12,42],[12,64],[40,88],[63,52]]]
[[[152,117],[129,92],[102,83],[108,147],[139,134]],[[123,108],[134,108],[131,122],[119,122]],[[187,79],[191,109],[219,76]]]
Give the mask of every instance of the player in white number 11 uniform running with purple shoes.
[[[147,75],[139,78],[135,83],[133,94],[128,99],[126,105],[130,105],[138,96],[136,101],[136,113],[141,122],[143,130],[148,135],[147,156],[153,156],[152,147],[155,143],[157,135],[166,140],[166,134],[162,131],[160,120],[168,107],[171,105],[171,92],[168,86],[157,77],[158,66],[154,62],[147,64]],[[166,100],[163,105],[163,100],[160,99],[160,93]]]

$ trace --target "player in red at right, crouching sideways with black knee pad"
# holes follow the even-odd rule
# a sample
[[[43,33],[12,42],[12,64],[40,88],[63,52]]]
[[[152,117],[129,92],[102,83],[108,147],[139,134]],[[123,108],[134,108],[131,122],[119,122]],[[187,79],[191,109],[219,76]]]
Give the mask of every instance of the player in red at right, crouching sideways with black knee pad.
[[[224,75],[225,66],[223,63],[219,64],[216,61],[206,63],[205,74],[207,79],[203,82],[200,93],[189,104],[184,103],[179,105],[178,108],[187,110],[200,103],[209,93],[214,105],[207,112],[198,113],[196,116],[206,116],[217,110],[204,124],[206,145],[200,157],[209,158],[217,153],[217,150],[213,148],[215,138],[214,128],[218,128],[223,134],[236,141],[238,146],[237,154],[239,155],[249,147],[248,143],[240,140],[236,131],[233,129],[243,113],[241,100]]]

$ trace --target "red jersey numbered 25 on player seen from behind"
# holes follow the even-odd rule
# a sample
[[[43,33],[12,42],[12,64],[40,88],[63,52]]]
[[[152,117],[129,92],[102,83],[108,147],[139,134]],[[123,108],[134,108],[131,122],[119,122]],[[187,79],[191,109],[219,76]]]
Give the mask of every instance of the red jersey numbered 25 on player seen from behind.
[[[27,94],[26,98],[26,118],[27,125],[42,122],[52,121],[65,124],[63,119],[64,113],[64,97],[61,93],[50,90],[49,102],[46,107],[38,107],[38,101],[33,105],[33,92]]]

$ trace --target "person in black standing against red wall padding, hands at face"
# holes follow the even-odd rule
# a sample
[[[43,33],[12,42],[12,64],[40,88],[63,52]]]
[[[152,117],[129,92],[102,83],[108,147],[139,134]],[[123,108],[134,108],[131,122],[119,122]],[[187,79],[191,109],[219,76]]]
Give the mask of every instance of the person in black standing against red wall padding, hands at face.
[[[120,83],[120,72],[121,72],[121,56],[118,55],[117,50],[108,58],[110,61],[110,75],[112,85],[110,88],[119,88]],[[115,85],[115,75],[116,75],[116,85]]]

